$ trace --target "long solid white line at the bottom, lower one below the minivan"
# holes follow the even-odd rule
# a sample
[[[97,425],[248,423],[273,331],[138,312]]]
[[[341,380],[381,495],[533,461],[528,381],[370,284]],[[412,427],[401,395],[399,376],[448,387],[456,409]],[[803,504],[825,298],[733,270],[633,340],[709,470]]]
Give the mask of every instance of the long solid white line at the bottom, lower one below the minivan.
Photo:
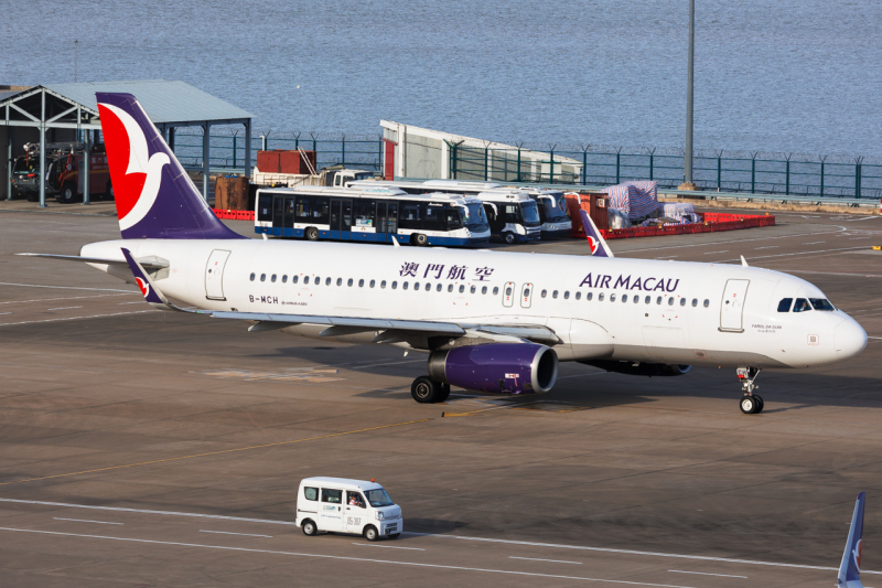
[[[334,559],[337,562],[359,562],[359,563],[369,563],[369,564],[388,564],[394,566],[410,566],[410,567],[421,567],[421,568],[434,568],[434,569],[452,569],[456,571],[483,571],[485,574],[504,574],[508,576],[527,576],[534,578],[555,578],[555,579],[563,579],[563,580],[582,580],[582,581],[593,581],[593,582],[602,582],[602,584],[623,584],[627,586],[656,586],[658,588],[691,588],[689,586],[677,586],[671,584],[652,584],[645,581],[628,581],[628,580],[611,580],[605,578],[587,578],[582,576],[562,576],[557,574],[537,574],[534,571],[514,571],[509,569],[493,569],[493,568],[476,568],[476,567],[465,567],[465,566],[445,566],[442,564],[420,564],[417,562],[396,562],[394,559],[370,559],[366,557],[346,557],[342,555],[325,555],[325,554],[310,554],[310,553],[299,553],[299,552],[277,552],[272,549],[254,549],[248,547],[227,547],[224,545],[204,545],[200,543],[181,543],[181,542],[173,542],[173,541],[154,541],[154,539],[137,539],[135,537],[109,537],[105,535],[84,535],[79,533],[60,533],[56,531],[37,531],[35,528],[13,528],[13,527],[0,527],[0,531],[10,531],[15,533],[36,533],[41,535],[55,535],[55,536],[63,536],[63,537],[82,537],[88,539],[106,539],[106,541],[121,541],[128,543],[140,543],[140,544],[150,544],[150,545],[172,545],[175,547],[200,547],[203,549],[218,549],[225,552],[243,552],[243,553],[252,553],[252,554],[269,554],[269,555],[289,555],[294,557],[315,557],[315,558],[324,558],[324,559]],[[837,568],[838,569],[838,568]]]

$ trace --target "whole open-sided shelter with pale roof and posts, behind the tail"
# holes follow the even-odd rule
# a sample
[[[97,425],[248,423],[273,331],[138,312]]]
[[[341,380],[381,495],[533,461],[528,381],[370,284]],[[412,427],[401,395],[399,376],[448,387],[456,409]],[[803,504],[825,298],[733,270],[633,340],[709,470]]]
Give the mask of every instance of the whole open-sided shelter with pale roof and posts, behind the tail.
[[[208,199],[212,159],[209,129],[213,126],[245,127],[245,175],[251,173],[251,119],[254,115],[180,81],[87,82],[41,86],[0,86],[0,145],[6,145],[0,197],[12,199],[12,159],[23,153],[25,142],[40,143],[40,178],[46,178],[45,146],[56,141],[80,141],[88,152],[100,140],[96,92],[128,93],[141,103],[147,115],[174,150],[179,127],[203,130],[202,194]],[[84,165],[83,203],[89,203],[88,165]],[[40,206],[46,205],[45,181],[40,185]]]

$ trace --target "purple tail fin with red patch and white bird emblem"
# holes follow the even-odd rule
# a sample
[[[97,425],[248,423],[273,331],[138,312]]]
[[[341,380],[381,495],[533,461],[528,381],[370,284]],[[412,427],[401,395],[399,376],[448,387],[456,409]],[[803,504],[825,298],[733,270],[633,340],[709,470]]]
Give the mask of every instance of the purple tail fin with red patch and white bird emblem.
[[[208,207],[135,96],[96,96],[123,239],[245,238]]]

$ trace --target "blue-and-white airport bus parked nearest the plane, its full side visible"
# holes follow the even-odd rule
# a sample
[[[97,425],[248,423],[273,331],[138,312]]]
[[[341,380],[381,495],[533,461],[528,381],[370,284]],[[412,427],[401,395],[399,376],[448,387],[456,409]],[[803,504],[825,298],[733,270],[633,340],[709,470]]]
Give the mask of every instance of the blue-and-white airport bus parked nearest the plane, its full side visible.
[[[396,188],[297,186],[257,192],[255,233],[309,240],[411,245],[486,243],[481,202],[451,194],[407,194]]]

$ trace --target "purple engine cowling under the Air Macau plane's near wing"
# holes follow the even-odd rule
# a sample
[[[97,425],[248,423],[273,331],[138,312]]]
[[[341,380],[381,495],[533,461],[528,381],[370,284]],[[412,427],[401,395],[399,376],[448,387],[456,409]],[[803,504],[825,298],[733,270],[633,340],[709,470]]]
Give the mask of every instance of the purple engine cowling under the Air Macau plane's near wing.
[[[429,377],[495,394],[537,394],[558,378],[558,354],[536,343],[487,343],[429,355]]]

